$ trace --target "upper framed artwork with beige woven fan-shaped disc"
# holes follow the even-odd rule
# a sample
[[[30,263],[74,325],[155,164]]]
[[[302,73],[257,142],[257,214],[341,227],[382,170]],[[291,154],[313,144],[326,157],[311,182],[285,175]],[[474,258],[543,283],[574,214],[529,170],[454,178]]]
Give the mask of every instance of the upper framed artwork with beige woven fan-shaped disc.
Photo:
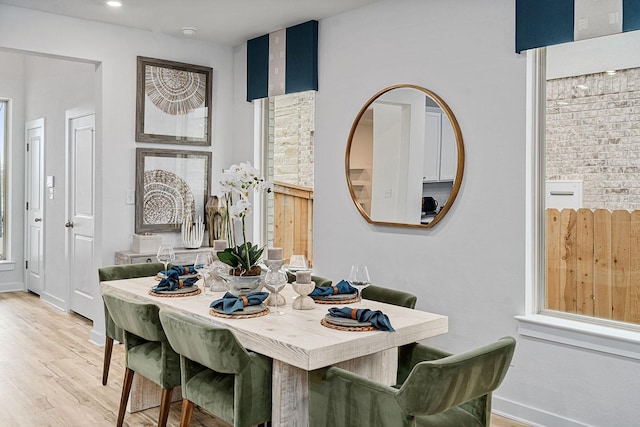
[[[211,145],[213,69],[138,56],[136,141]]]

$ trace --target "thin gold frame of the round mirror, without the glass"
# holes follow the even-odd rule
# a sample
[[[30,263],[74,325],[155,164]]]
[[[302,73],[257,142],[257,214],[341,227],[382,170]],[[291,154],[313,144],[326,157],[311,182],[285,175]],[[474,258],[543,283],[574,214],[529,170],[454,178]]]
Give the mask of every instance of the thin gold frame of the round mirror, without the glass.
[[[384,95],[387,92],[390,92],[394,89],[415,89],[418,90],[420,92],[422,92],[424,95],[430,97],[436,104],[438,104],[438,106],[440,107],[440,109],[446,114],[447,118],[449,119],[449,122],[451,124],[451,127],[453,129],[453,133],[455,136],[455,144],[456,144],[456,150],[457,150],[457,165],[456,165],[456,174],[455,174],[455,178],[453,181],[453,186],[451,188],[451,191],[449,193],[449,197],[447,198],[446,204],[444,205],[444,207],[441,208],[441,210],[433,217],[433,219],[428,223],[428,224],[412,224],[412,223],[401,223],[401,222],[386,222],[386,221],[376,221],[373,218],[371,218],[371,216],[365,211],[365,209],[363,208],[362,204],[360,203],[360,200],[358,199],[358,197],[356,196],[355,190],[354,190],[354,184],[351,180],[351,148],[352,148],[352,144],[353,144],[353,138],[354,135],[356,133],[356,129],[358,128],[358,125],[360,124],[360,120],[363,118],[364,114],[367,112],[367,110],[371,107],[371,105],[377,100],[379,99],[382,95]],[[390,226],[400,226],[400,227],[413,227],[413,228],[431,228],[434,225],[436,225],[438,222],[440,222],[440,220],[442,220],[442,218],[444,218],[444,216],[447,214],[447,212],[449,211],[449,209],[451,209],[451,205],[453,205],[453,202],[456,199],[456,196],[458,195],[458,191],[460,190],[460,185],[462,184],[462,175],[464,173],[464,144],[463,144],[463,140],[462,140],[462,132],[460,131],[460,126],[458,125],[458,121],[456,120],[456,117],[454,116],[453,112],[451,111],[451,109],[449,108],[449,106],[447,105],[446,102],[444,102],[442,100],[442,98],[440,98],[438,95],[436,95],[435,93],[431,92],[428,89],[425,89],[423,87],[420,86],[416,86],[416,85],[411,85],[411,84],[398,84],[398,85],[393,85],[393,86],[389,86],[387,88],[384,88],[382,90],[380,90],[379,92],[377,92],[375,95],[373,95],[367,102],[366,104],[360,109],[360,112],[358,112],[358,115],[356,116],[355,120],[353,121],[353,125],[351,126],[351,131],[349,132],[349,139],[347,141],[347,149],[346,149],[346,155],[345,155],[345,174],[347,177],[347,185],[349,187],[349,193],[351,194],[351,199],[353,200],[353,203],[355,204],[356,208],[358,209],[358,212],[360,212],[360,215],[362,215],[362,217],[367,220],[367,222],[371,223],[371,224],[378,224],[378,225],[390,225]]]

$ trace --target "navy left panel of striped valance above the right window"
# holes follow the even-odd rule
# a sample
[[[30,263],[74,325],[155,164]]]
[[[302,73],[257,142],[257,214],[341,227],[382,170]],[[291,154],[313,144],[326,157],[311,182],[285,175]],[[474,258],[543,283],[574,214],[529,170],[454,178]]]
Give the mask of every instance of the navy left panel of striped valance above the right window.
[[[516,52],[573,41],[574,0],[516,0]]]

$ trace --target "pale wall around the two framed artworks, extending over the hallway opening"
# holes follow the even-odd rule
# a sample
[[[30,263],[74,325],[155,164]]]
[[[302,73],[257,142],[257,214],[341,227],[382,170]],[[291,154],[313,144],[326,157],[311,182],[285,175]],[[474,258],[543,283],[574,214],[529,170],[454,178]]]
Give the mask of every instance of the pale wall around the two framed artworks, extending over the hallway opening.
[[[134,206],[125,204],[125,191],[135,188],[135,148],[180,148],[135,142],[136,56],[213,67],[213,146],[182,148],[213,151],[214,181],[216,174],[230,161],[232,150],[224,148],[234,146],[233,111],[230,108],[233,105],[234,74],[233,50],[230,47],[0,5],[0,48],[99,63],[95,102],[96,209],[100,216],[96,231],[101,246],[96,257],[97,266],[112,264],[115,251],[130,249]],[[16,236],[21,236],[21,231]],[[168,238],[177,241],[178,234]],[[45,274],[48,280],[66,280],[50,275],[49,271]],[[97,277],[95,291],[96,320],[92,339],[100,340],[103,319]]]

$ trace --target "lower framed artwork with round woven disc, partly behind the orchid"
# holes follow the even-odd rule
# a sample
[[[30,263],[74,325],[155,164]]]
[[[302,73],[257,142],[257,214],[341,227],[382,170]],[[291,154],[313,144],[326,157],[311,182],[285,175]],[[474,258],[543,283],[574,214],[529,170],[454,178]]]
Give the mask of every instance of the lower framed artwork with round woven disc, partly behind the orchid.
[[[180,231],[185,216],[205,218],[211,153],[136,149],[137,234]]]

